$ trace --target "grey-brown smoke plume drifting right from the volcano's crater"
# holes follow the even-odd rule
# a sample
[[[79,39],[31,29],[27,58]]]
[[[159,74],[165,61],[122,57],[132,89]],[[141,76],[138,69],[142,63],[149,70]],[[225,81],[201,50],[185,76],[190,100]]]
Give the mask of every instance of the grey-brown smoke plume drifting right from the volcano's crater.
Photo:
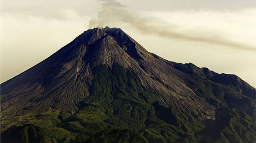
[[[101,1],[104,1],[102,4],[102,10],[99,11],[97,17],[93,17],[90,20],[90,28],[128,24],[143,34],[155,34],[165,38],[204,42],[211,45],[228,46],[230,48],[236,48],[240,50],[256,50],[255,45],[235,42],[231,39],[227,39],[221,36],[211,35],[209,32],[206,33],[207,35],[203,35],[199,34],[198,31],[189,31],[189,33],[179,31],[177,30],[180,29],[179,25],[166,24],[159,21],[156,22],[157,20],[154,20],[154,17],[142,17],[139,14],[131,13],[128,11],[128,8],[116,0]]]

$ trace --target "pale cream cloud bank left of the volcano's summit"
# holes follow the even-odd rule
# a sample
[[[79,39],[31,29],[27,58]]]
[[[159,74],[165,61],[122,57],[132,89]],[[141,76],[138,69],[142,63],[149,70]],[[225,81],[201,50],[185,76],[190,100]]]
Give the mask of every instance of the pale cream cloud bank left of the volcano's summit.
[[[71,9],[60,13],[61,19],[1,13],[1,83],[46,59],[88,27],[89,17]]]

